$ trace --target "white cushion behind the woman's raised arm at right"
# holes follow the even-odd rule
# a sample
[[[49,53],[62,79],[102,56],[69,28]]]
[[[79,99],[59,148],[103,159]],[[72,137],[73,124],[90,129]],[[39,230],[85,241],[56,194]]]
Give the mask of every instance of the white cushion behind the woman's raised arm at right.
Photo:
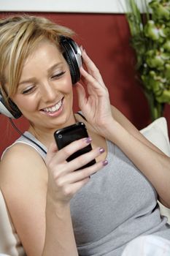
[[[164,154],[170,157],[169,134],[166,118],[161,117],[156,119],[140,132],[142,132],[144,137],[150,140],[155,146],[160,148]],[[163,206],[160,202],[158,202],[158,204],[161,209],[161,215],[166,216],[170,224],[170,209]]]

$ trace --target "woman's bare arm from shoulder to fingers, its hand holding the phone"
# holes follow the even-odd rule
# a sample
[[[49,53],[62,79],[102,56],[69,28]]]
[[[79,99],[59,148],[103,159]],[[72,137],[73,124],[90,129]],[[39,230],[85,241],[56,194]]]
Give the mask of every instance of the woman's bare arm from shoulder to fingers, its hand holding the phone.
[[[102,167],[98,162],[74,171],[96,158],[98,148],[66,162],[70,154],[84,146],[85,140],[77,140],[61,151],[53,146],[47,153],[46,165],[34,148],[24,144],[12,146],[4,155],[1,190],[26,255],[78,255],[69,201]]]

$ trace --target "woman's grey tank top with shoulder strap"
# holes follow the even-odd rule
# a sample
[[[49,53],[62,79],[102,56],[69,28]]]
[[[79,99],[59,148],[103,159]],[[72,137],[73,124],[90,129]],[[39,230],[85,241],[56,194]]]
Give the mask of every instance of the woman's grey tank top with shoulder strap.
[[[47,150],[29,132],[24,134]],[[15,143],[33,146],[45,158],[42,149],[26,138],[21,136]],[[109,140],[107,148],[109,164],[93,174],[71,200],[79,255],[120,256],[128,241],[147,234],[170,240],[170,225],[160,215],[152,184]]]

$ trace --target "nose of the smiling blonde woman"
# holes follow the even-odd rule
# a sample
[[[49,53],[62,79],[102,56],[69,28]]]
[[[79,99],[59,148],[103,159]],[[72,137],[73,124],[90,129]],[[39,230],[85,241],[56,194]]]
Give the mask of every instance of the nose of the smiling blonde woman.
[[[43,83],[41,86],[41,95],[45,102],[53,102],[56,97],[56,89],[53,83]]]

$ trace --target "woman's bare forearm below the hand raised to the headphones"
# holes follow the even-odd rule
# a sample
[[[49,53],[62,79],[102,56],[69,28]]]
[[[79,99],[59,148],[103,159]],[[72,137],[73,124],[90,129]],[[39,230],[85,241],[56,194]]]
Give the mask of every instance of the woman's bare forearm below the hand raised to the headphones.
[[[138,134],[136,129],[127,130],[117,121],[112,125],[112,131],[107,129],[108,138],[134,162],[157,190],[161,203],[170,208],[170,158]]]

